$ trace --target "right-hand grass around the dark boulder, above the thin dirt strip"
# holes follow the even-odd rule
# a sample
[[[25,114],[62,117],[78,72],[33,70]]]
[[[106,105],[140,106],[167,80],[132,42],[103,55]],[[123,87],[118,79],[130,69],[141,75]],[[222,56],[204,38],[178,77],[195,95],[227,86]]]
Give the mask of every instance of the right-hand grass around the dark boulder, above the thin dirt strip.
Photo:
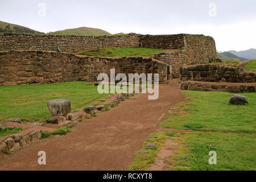
[[[256,132],[256,93],[240,93],[247,105],[230,105],[232,93],[183,90],[187,102],[174,107],[174,113],[160,123],[161,128],[202,131]]]

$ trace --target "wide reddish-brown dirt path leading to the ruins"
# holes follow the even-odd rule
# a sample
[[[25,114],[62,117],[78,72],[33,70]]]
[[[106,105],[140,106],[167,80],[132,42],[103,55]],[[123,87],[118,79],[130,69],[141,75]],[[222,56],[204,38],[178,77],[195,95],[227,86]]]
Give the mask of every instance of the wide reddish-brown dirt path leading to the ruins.
[[[158,100],[147,94],[79,123],[72,133],[46,139],[2,159],[0,170],[126,170],[168,109],[184,101],[179,85],[159,85]],[[46,165],[38,164],[39,151]]]

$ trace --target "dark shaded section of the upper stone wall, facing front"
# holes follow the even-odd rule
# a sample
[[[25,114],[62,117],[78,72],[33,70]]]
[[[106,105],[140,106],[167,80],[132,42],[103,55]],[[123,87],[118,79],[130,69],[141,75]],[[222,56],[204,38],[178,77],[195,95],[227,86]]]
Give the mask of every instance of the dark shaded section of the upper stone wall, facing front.
[[[185,48],[184,34],[177,35],[139,35],[139,47],[157,49]]]

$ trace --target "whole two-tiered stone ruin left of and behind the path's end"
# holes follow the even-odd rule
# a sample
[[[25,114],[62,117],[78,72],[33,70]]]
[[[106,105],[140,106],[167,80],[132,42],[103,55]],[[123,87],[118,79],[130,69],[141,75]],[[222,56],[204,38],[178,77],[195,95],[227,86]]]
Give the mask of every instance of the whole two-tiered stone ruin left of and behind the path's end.
[[[170,49],[151,57],[91,57],[73,52],[94,48]],[[57,48],[63,52],[56,52]],[[0,85],[97,80],[99,73],[159,73],[180,77],[179,67],[217,59],[214,39],[204,35],[62,36],[0,34]]]

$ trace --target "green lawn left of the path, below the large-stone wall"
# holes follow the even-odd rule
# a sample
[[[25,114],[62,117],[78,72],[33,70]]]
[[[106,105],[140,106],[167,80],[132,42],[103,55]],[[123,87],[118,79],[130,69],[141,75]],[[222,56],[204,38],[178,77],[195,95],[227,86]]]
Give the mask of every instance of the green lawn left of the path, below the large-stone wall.
[[[0,122],[9,118],[22,121],[44,121],[51,117],[48,100],[67,98],[71,110],[84,109],[86,105],[100,104],[111,94],[100,94],[90,82],[63,82],[54,84],[0,86]]]

